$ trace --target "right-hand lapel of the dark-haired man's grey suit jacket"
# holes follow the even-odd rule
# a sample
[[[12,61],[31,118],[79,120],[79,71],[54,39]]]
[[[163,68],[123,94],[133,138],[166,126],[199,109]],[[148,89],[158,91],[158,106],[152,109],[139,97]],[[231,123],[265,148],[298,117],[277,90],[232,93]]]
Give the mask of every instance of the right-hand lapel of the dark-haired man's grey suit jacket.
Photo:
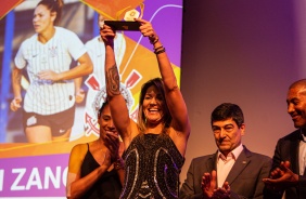
[[[252,152],[247,150],[245,146],[243,146],[243,150],[239,155],[238,159],[235,160],[234,164],[232,165],[232,169],[230,170],[226,178],[226,181],[229,182],[229,184],[232,184],[232,182],[239,176],[239,174],[250,163],[251,156],[252,156]]]

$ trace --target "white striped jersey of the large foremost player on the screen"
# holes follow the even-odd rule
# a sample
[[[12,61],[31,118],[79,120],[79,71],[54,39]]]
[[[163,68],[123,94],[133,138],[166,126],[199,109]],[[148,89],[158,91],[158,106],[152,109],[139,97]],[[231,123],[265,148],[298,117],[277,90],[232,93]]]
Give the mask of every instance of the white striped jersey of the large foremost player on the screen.
[[[54,36],[44,44],[38,41],[37,34],[25,40],[15,56],[15,66],[26,67],[30,82],[24,100],[25,111],[52,115],[71,108],[75,104],[74,80],[41,80],[38,72],[69,70],[72,58],[77,61],[86,52],[77,35],[61,27],[55,27]]]

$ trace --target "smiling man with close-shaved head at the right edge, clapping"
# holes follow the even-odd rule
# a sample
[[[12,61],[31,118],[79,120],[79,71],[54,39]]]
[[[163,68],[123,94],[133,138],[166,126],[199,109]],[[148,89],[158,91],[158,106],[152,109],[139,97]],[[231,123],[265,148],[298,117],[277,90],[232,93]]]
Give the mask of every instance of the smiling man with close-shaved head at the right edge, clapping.
[[[264,182],[278,195],[267,198],[306,199],[306,79],[290,85],[286,104],[297,130],[277,143],[271,176]]]

